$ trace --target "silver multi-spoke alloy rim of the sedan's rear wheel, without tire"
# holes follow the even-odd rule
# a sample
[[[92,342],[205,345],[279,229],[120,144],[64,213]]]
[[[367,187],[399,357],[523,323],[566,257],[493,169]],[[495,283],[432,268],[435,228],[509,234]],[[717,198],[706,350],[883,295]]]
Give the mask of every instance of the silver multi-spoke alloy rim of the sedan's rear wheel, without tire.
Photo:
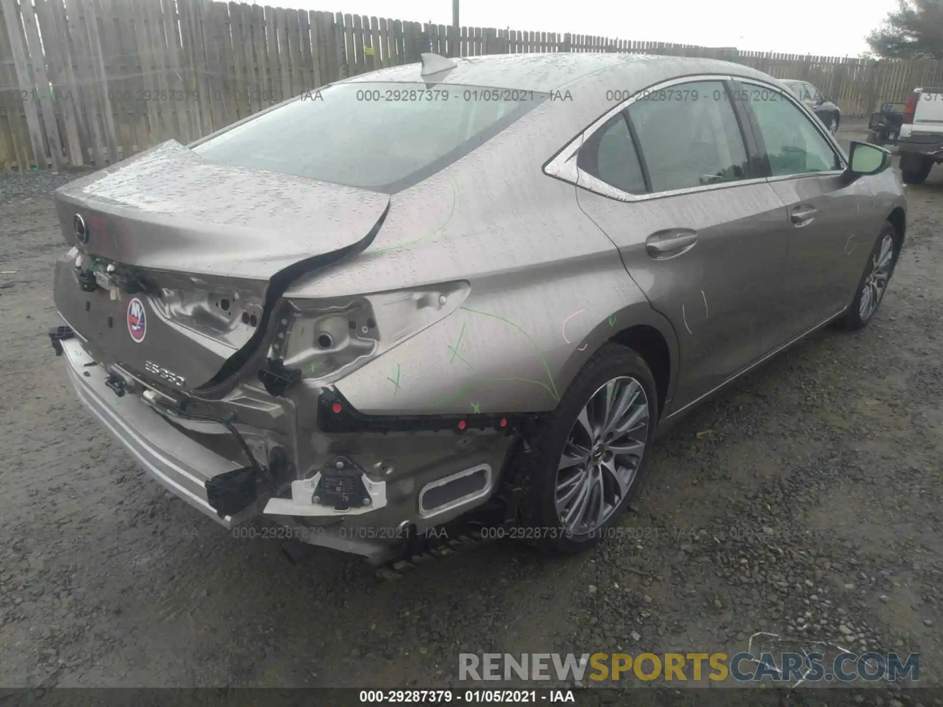
[[[628,494],[649,435],[649,402],[631,376],[596,389],[573,422],[556,471],[556,516],[574,535],[603,526]]]

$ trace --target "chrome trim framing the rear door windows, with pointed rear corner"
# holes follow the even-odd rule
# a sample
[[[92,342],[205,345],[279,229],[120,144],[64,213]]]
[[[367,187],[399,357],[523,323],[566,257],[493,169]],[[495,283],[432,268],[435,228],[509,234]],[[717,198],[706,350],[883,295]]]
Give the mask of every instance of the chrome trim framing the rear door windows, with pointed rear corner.
[[[628,191],[617,189],[616,187],[605,183],[599,177],[595,177],[576,166],[577,155],[579,154],[580,148],[583,147],[583,143],[587,140],[587,138],[602,128],[603,125],[607,123],[614,115],[625,110],[627,107],[630,107],[642,96],[646,95],[646,93],[653,93],[656,90],[669,89],[672,86],[695,83],[697,81],[734,80],[738,79],[736,76],[732,76],[730,74],[697,74],[692,76],[679,76],[670,78],[659,84],[653,84],[653,86],[649,88],[640,89],[634,96],[630,96],[620,104],[617,104],[615,107],[606,111],[601,118],[598,118],[594,123],[590,124],[586,130],[568,142],[566,146],[560,150],[560,152],[557,153],[557,155],[550,162],[547,163],[547,165],[543,168],[543,171],[550,176],[555,176],[565,182],[570,182],[572,185],[581,189],[587,189],[588,191],[601,194],[602,196],[609,197],[610,199],[616,199],[620,202],[629,203],[651,201],[652,199],[664,199],[670,196],[679,196],[681,194],[690,194],[698,191],[713,191],[715,189],[728,189],[730,187],[763,184],[767,181],[766,177],[739,179],[732,182],[720,182],[718,184],[704,184],[698,187],[687,187],[687,189],[656,191],[650,194],[632,194]]]

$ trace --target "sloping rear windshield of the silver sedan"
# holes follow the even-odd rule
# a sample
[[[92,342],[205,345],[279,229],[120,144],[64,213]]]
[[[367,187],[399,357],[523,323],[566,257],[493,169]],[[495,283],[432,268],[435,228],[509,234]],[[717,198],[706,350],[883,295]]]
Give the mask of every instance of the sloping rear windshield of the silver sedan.
[[[393,193],[467,155],[546,97],[448,84],[342,83],[193,150],[222,164]]]

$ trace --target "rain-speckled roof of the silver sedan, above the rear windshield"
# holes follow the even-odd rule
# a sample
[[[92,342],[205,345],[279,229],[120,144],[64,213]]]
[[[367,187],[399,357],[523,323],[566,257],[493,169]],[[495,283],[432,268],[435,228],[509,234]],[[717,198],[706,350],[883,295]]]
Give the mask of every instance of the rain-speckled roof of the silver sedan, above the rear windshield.
[[[651,76],[659,80],[666,69],[677,75],[686,74],[734,74],[775,81],[768,74],[735,64],[730,61],[710,58],[653,56],[645,54],[504,54],[482,57],[454,58],[455,68],[431,75],[430,83],[481,86],[501,89],[534,90],[551,92],[571,89],[601,76],[620,78],[632,74],[633,83],[645,83]],[[345,81],[394,81],[422,82],[421,63],[380,69],[369,74],[345,79]],[[622,88],[614,86],[614,89]]]

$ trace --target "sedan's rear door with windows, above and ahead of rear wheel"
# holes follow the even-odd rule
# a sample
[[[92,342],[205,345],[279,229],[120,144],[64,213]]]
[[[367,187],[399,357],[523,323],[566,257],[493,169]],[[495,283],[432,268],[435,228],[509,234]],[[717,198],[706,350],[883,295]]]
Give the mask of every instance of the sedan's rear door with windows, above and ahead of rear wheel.
[[[578,156],[581,208],[678,335],[674,410],[762,353],[785,263],[786,211],[735,106],[717,76],[677,79],[601,119]]]

